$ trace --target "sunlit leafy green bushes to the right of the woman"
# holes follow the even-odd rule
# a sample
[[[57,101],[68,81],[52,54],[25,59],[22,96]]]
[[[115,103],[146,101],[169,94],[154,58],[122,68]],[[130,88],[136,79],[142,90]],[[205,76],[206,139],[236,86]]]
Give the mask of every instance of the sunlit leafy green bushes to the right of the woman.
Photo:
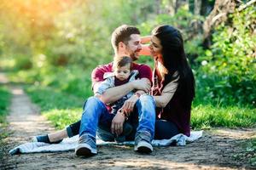
[[[198,58],[198,96],[215,103],[255,105],[255,7],[231,14],[218,26],[210,50]]]

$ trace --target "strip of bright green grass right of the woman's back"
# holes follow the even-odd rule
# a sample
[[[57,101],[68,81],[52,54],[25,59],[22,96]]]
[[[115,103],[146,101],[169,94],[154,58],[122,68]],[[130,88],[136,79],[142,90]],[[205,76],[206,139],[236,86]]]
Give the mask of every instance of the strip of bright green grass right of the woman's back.
[[[241,106],[197,105],[192,109],[194,128],[254,127],[256,109]]]

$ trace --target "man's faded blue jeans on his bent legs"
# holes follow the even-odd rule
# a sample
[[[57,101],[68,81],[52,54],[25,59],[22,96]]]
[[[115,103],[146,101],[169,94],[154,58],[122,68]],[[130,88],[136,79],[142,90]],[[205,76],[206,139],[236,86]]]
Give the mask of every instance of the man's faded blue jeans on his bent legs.
[[[138,111],[139,124],[138,131],[148,131],[154,138],[154,122],[155,122],[155,103],[150,95],[142,95],[136,103]],[[105,104],[96,97],[90,97],[84,103],[84,111],[81,118],[79,136],[88,133],[96,136],[98,125],[110,127],[113,114],[109,114]],[[99,131],[100,133],[101,131]]]

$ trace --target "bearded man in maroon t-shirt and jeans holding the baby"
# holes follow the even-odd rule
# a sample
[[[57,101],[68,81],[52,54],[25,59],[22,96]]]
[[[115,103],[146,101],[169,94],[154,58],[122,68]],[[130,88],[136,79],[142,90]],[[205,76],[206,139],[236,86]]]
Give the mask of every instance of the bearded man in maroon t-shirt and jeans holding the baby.
[[[113,31],[112,45],[115,51],[115,57],[125,54],[131,56],[131,59],[137,60],[139,52],[142,50],[140,32],[133,26],[119,26]],[[99,98],[90,97],[87,99],[84,104],[84,111],[79,128],[79,144],[75,150],[76,155],[90,156],[96,154],[97,125],[108,120],[110,117],[105,104],[121,99],[125,94],[128,94],[134,89],[137,89],[136,95],[127,99],[121,111],[113,117],[111,131],[116,134],[122,133],[125,114],[129,114],[133,111],[134,105],[137,105],[139,122],[135,137],[135,150],[147,153],[153,150],[151,141],[154,138],[154,99],[149,95],[140,96],[143,91],[149,91],[152,73],[147,65],[135,64],[133,69],[139,71],[141,76],[140,80],[109,88],[104,94],[99,96]],[[98,67],[93,71],[92,88],[94,91],[96,91],[100,82],[103,81],[104,73],[111,70],[112,64],[108,64]]]

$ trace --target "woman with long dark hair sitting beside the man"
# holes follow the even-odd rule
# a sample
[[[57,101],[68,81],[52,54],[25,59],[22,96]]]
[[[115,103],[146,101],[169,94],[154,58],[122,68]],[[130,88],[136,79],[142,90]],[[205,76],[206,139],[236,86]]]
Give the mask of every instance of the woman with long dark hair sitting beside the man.
[[[146,41],[147,38],[143,42]],[[146,50],[154,57],[151,94],[154,96],[158,116],[154,139],[170,139],[177,133],[189,136],[195,79],[186,59],[181,33],[172,26],[158,26],[152,31],[151,44]],[[67,136],[78,134],[79,126],[79,122],[76,122],[67,129],[39,136],[36,140],[58,143]]]

